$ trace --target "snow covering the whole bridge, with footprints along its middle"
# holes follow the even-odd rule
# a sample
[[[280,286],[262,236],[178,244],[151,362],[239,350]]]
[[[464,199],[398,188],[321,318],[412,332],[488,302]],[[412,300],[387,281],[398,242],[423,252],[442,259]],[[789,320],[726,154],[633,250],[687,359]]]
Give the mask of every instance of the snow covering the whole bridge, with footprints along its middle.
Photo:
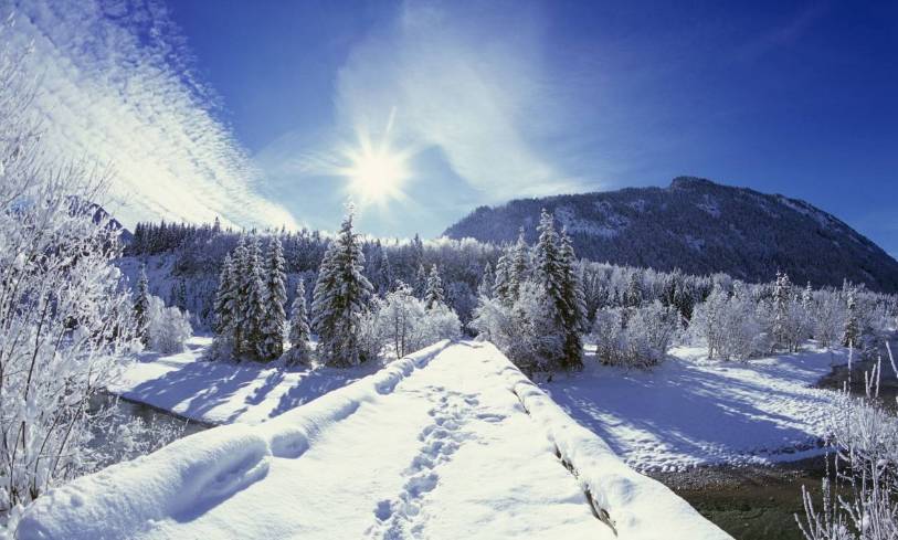
[[[611,539],[612,527],[729,538],[494,346],[443,341],[262,424],[201,432],[54,489],[18,533]]]

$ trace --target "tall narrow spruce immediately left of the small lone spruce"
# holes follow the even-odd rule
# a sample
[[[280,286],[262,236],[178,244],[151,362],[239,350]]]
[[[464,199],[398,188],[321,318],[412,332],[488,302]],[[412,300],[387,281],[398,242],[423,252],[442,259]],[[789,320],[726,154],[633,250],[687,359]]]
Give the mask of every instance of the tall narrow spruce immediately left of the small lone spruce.
[[[263,272],[265,313],[261,327],[262,341],[257,347],[257,354],[262,360],[273,360],[284,353],[284,328],[287,320],[287,314],[284,311],[287,301],[287,289],[284,286],[285,267],[281,240],[274,235],[268,242]]]

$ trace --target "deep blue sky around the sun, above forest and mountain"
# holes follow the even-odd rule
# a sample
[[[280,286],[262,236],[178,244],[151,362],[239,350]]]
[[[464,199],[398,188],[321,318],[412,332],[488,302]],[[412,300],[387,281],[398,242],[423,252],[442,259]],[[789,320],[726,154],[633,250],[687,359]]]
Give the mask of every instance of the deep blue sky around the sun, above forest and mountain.
[[[147,24],[129,10],[106,9],[98,24]],[[378,235],[434,236],[515,197],[694,174],[805,199],[898,253],[895,2],[191,0],[145,11],[173,24],[136,54],[155,44],[149,57],[172,84],[200,88],[176,100],[179,114],[193,106],[216,123],[213,158],[233,186],[135,215],[332,229],[360,198],[335,170],[361,137],[408,155],[401,197],[360,204],[361,227]],[[59,42],[59,24],[34,25]],[[251,204],[233,209],[236,199]],[[208,209],[194,215],[181,200]]]

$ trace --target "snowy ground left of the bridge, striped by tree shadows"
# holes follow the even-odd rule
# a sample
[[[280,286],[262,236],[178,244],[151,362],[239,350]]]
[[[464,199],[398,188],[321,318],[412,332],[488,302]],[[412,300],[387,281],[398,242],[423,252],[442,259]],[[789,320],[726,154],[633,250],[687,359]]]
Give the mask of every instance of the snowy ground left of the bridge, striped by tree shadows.
[[[345,387],[380,366],[351,369],[202,360],[211,337],[194,336],[184,352],[144,353],[109,387],[123,398],[210,424],[257,424]]]

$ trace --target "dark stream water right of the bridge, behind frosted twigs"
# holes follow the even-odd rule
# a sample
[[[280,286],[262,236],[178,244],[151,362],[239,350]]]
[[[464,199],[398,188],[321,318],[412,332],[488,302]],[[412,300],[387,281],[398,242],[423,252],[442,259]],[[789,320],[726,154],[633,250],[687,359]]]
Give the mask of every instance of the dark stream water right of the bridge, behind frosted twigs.
[[[892,350],[898,352],[895,345]],[[874,362],[837,367],[820,381],[820,388],[865,395],[864,371]],[[892,411],[898,395],[898,378],[884,353],[879,400]],[[851,377],[849,377],[851,375]],[[770,467],[702,467],[685,473],[653,473],[696,510],[737,540],[804,540],[795,515],[804,520],[802,486],[821,506],[821,480],[826,476],[824,456]]]

